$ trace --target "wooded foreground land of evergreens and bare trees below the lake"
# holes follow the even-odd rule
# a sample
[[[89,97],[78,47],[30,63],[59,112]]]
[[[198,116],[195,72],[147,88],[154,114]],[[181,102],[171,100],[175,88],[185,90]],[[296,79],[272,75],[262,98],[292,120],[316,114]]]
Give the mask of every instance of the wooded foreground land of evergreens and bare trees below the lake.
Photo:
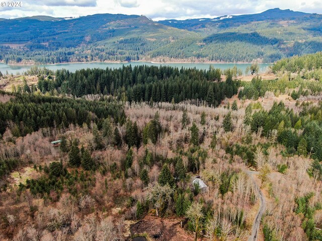
[[[322,240],[321,60],[3,75],[0,240]]]

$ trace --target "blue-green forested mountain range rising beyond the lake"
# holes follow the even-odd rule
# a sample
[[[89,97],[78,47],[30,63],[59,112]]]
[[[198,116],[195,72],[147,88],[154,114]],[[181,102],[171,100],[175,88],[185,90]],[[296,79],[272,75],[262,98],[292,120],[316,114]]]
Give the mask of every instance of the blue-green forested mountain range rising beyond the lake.
[[[274,62],[322,50],[322,15],[271,9],[213,19],[145,16],[0,19],[0,61]]]

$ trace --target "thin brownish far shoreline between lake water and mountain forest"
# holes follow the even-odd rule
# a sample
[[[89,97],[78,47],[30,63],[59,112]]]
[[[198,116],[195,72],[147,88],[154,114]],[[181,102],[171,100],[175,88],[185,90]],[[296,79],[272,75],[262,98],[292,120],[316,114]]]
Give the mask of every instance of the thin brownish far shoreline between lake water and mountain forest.
[[[253,64],[252,62],[154,62],[154,61],[88,61],[88,62],[63,62],[63,63],[54,63],[54,64],[6,64],[4,62],[0,62],[2,64],[6,64],[8,66],[40,66],[40,65],[59,65],[59,64],[91,64],[91,63],[107,63],[107,64],[131,64],[131,63],[139,63],[146,62],[151,64]],[[258,64],[274,64],[274,63],[258,63]]]

